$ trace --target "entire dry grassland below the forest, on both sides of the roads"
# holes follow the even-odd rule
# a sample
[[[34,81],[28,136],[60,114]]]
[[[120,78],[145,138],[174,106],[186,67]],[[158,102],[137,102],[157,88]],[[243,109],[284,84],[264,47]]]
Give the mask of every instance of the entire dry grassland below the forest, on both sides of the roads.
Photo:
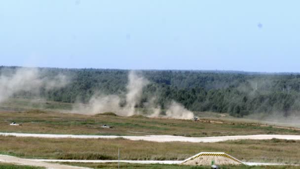
[[[295,128],[280,128],[283,124],[258,123],[237,119],[227,114],[197,112],[199,122],[192,120],[120,117],[71,114],[72,104],[59,102],[29,104],[28,100],[13,99],[0,105],[0,132],[86,134],[86,135],[180,135],[208,137],[252,134],[300,135]],[[43,101],[41,101],[43,102]],[[1,107],[2,106],[2,107]],[[15,109],[14,109],[15,108]],[[33,110],[33,108],[35,108]],[[41,110],[38,110],[41,109]],[[65,112],[65,113],[60,113]],[[17,122],[22,126],[9,126]],[[221,123],[220,123],[221,122]],[[102,128],[102,125],[112,128]],[[267,126],[271,124],[272,126]],[[274,126],[273,126],[274,125]],[[247,162],[300,164],[300,141],[295,140],[235,140],[217,143],[149,142],[117,139],[49,139],[0,136],[0,154],[22,158],[116,160],[117,148],[121,160],[184,160],[199,152],[225,152]],[[66,163],[95,169],[115,169],[117,164]],[[177,165],[122,164],[122,168],[137,169],[209,169]],[[225,166],[223,169],[239,169]],[[299,167],[243,167],[244,169],[296,169]],[[0,168],[1,169],[1,168]],[[6,169],[6,168],[3,168]],[[12,168],[15,169],[15,168]],[[18,169],[18,168],[16,168]],[[29,168],[31,169],[31,168]]]

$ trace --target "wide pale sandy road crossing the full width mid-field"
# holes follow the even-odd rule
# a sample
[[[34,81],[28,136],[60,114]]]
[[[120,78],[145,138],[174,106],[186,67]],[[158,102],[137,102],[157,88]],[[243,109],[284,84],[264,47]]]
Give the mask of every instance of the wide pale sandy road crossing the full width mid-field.
[[[275,135],[275,134],[259,134],[259,135],[233,135],[233,136],[216,136],[216,137],[184,137],[173,135],[146,135],[146,136],[115,136],[115,135],[71,135],[71,134],[30,134],[30,133],[5,133],[0,132],[0,135],[17,136],[17,137],[40,137],[40,138],[118,138],[122,137],[129,140],[145,140],[153,142],[220,142],[227,140],[238,139],[288,139],[300,140],[300,135]]]

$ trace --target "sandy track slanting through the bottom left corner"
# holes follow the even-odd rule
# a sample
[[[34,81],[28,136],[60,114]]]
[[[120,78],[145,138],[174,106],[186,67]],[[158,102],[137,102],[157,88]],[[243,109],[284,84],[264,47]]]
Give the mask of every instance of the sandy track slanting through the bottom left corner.
[[[90,169],[84,167],[67,166],[53,163],[34,161],[31,159],[21,159],[13,156],[0,155],[0,162],[12,163],[16,165],[45,167],[46,169]]]

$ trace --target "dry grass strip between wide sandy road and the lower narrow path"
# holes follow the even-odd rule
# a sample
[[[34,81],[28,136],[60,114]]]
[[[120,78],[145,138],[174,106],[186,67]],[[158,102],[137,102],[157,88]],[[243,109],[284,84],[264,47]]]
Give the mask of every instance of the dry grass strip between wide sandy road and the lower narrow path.
[[[23,158],[184,160],[199,152],[225,152],[248,162],[299,164],[300,141],[236,140],[218,143],[131,141],[118,139],[48,139],[0,136],[0,154]]]

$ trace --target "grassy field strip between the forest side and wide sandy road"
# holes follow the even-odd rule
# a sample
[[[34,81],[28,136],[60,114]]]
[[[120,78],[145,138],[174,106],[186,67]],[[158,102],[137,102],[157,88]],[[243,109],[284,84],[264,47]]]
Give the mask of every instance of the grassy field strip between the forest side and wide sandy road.
[[[11,122],[22,126],[9,126]],[[102,125],[112,128],[102,128]],[[52,111],[30,110],[1,112],[0,132],[92,134],[92,135],[181,135],[192,137],[300,134],[300,130],[257,126],[256,123],[210,123],[191,120],[146,118],[143,116],[120,117],[107,115],[80,115]]]

